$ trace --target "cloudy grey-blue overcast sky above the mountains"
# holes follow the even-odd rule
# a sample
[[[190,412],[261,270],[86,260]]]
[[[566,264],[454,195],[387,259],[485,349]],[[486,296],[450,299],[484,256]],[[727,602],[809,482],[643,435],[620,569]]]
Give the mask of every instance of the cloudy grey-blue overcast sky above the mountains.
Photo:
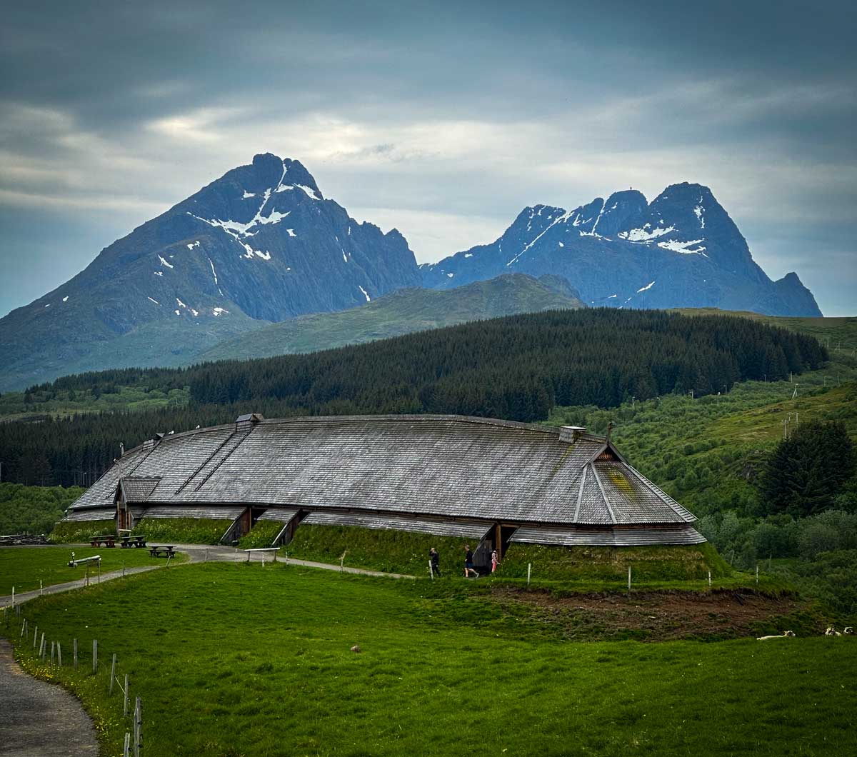
[[[7,5],[0,315],[262,152],[420,262],[526,205],[704,183],[771,278],[857,314],[854,7]]]

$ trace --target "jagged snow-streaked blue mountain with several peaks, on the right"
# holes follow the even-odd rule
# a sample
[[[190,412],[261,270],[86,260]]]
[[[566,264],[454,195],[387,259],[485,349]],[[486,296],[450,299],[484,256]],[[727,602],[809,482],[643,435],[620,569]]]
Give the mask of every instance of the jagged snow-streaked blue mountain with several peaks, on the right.
[[[421,266],[435,289],[499,273],[555,273],[585,303],[617,308],[717,307],[821,315],[796,273],[771,281],[708,187],[673,184],[650,203],[633,189],[566,211],[526,207],[491,244]]]

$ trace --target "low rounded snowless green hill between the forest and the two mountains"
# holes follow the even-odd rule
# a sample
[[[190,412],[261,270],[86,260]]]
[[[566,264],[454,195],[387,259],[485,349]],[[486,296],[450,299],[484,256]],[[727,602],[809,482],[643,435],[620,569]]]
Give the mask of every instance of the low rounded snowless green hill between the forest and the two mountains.
[[[507,273],[450,291],[403,289],[359,308],[302,315],[228,339],[202,352],[199,359],[311,352],[500,315],[583,307],[565,279]]]

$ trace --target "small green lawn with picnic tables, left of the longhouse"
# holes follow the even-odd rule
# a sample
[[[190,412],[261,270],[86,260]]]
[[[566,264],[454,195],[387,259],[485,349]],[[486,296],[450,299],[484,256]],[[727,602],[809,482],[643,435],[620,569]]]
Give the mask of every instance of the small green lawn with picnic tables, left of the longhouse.
[[[93,555],[101,556],[101,573],[126,568],[138,568],[141,565],[163,565],[163,557],[150,557],[148,550],[127,549],[114,547],[112,550],[99,547],[98,549],[80,544],[68,544],[63,547],[3,547],[0,549],[0,596],[15,592],[29,592],[39,588],[39,579],[44,586],[64,584],[66,581],[81,579],[87,574],[85,565],[69,568],[71,553],[78,559]],[[187,559],[179,556],[177,559]],[[171,561],[172,562],[172,561]],[[89,577],[97,579],[98,569],[94,564],[89,566]]]

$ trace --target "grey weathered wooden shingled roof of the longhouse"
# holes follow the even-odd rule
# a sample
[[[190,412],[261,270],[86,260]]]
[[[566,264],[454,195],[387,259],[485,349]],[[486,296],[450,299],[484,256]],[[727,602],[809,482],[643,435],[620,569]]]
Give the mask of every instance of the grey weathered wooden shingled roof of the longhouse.
[[[134,501],[145,494],[149,506],[347,509],[554,526],[696,520],[601,436],[490,418],[259,418],[165,436],[124,454],[72,514],[111,506],[120,475],[126,491],[133,484]]]

